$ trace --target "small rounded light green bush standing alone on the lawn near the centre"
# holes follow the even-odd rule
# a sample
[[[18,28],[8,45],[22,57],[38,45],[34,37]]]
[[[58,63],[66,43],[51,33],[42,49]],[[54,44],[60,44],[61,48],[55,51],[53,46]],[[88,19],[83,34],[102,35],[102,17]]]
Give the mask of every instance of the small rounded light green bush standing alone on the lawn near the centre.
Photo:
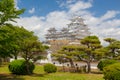
[[[57,67],[54,64],[47,63],[44,65],[44,71],[47,73],[54,73],[57,71]]]

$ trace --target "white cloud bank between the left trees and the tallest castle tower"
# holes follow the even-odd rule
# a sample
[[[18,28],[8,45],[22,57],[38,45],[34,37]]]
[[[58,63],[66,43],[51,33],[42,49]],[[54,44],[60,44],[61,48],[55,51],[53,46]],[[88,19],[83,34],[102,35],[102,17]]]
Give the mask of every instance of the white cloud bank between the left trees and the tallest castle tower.
[[[44,35],[47,32],[47,29],[50,27],[60,29],[67,26],[68,23],[69,19],[66,12],[55,11],[49,13],[46,17],[21,17],[17,20],[16,25],[20,25],[25,27],[27,30],[34,31],[41,40],[44,40]]]

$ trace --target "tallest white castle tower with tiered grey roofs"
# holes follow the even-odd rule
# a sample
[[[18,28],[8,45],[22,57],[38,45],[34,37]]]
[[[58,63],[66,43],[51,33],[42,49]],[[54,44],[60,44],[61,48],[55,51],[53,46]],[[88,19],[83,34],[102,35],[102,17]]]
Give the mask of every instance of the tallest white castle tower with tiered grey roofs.
[[[84,20],[81,17],[75,17],[71,19],[71,23],[68,24],[69,32],[72,40],[80,40],[90,35],[89,28],[84,24]]]

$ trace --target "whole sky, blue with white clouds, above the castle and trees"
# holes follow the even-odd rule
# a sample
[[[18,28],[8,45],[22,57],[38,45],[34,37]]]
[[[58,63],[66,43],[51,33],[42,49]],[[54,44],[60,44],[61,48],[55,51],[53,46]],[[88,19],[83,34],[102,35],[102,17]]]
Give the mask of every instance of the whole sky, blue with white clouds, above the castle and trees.
[[[90,32],[102,39],[120,40],[120,0],[15,0],[25,8],[16,25],[34,31],[41,41],[51,27],[67,27],[70,19],[81,16]]]

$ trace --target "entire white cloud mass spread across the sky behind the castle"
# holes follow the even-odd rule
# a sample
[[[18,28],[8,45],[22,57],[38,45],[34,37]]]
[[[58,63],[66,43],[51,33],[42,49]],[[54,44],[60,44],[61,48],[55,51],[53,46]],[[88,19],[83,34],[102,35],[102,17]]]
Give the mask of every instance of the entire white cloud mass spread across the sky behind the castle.
[[[69,0],[68,0],[69,1]],[[85,19],[85,23],[90,28],[90,31],[99,36],[100,39],[105,37],[114,37],[120,39],[120,19],[116,19],[116,16],[120,13],[118,11],[106,11],[100,17],[95,17],[93,13],[88,11],[88,8],[92,7],[93,0],[83,2],[78,0],[72,2],[70,0],[66,3],[68,11],[53,11],[47,14],[45,17],[22,17],[18,21],[18,25],[24,26],[28,30],[33,30],[36,35],[44,40],[44,34],[50,27],[56,27],[57,29],[67,26],[70,22],[71,15],[79,15]],[[65,5],[65,3],[64,3]],[[32,8],[31,13],[34,12]]]

